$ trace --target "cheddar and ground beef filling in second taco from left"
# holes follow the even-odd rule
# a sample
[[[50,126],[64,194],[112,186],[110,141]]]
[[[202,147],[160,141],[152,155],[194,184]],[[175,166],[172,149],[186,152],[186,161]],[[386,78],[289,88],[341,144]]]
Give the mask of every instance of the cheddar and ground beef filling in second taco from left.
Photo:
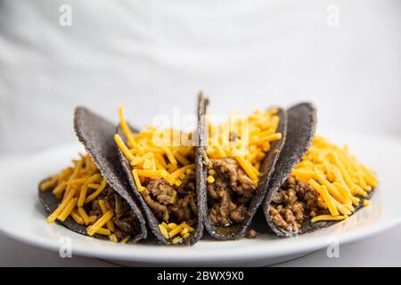
[[[134,134],[119,108],[115,141],[132,168],[136,190],[160,222],[160,232],[173,243],[189,239],[197,224],[195,148],[192,134],[148,126]]]

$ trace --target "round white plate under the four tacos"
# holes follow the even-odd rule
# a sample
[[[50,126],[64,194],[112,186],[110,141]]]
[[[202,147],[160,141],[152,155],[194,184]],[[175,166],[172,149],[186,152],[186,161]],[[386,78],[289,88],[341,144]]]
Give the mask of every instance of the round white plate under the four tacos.
[[[121,245],[70,232],[59,224],[46,224],[37,199],[37,183],[70,163],[78,144],[45,151],[23,159],[0,174],[0,229],[5,234],[41,248],[59,251],[63,237],[70,237],[72,254],[100,257],[129,265],[271,265],[327,247],[331,242],[355,241],[384,231],[401,221],[401,143],[390,138],[336,135],[335,142],[349,142],[358,159],[381,179],[372,205],[347,221],[297,238],[258,235],[255,240],[201,240],[192,248],[160,245]],[[64,241],[65,242],[65,241]]]

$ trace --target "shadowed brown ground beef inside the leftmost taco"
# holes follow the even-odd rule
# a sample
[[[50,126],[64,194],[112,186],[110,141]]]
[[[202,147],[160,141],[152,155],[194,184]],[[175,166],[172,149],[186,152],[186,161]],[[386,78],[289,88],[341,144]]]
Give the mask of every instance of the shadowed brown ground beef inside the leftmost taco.
[[[102,216],[102,209],[99,205],[100,199],[104,200],[104,205],[108,210],[114,210],[115,216],[112,221],[115,225],[116,231],[114,233],[117,238],[123,240],[127,236],[134,236],[139,223],[135,212],[129,208],[126,200],[122,199],[110,186],[107,186],[96,199],[85,206],[86,212],[91,216]]]

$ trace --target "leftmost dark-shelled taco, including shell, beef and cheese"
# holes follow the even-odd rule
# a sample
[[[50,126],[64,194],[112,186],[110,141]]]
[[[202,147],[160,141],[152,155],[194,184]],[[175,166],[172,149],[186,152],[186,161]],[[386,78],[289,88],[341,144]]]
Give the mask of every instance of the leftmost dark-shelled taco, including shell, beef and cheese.
[[[39,199],[50,214],[47,222],[114,242],[145,239],[145,221],[112,140],[115,126],[77,108],[74,129],[87,153],[39,184]]]

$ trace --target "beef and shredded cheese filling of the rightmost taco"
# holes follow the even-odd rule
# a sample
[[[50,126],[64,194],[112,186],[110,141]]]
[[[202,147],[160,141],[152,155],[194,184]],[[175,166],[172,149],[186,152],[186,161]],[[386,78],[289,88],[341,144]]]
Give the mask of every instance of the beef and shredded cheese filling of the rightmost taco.
[[[287,232],[301,232],[302,224],[347,219],[368,206],[369,192],[378,178],[349,154],[323,137],[316,137],[306,156],[273,194],[269,214]]]

